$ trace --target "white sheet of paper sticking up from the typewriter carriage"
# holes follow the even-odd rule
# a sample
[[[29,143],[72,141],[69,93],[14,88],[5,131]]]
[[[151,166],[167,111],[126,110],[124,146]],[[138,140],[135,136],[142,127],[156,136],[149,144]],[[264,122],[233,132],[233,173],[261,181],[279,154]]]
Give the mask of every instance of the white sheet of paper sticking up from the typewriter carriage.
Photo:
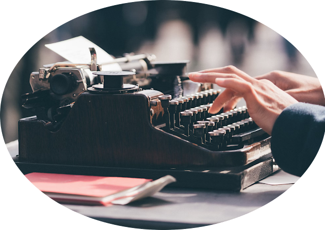
[[[114,60],[114,58],[105,50],[82,36],[61,42],[46,44],[45,47],[73,63],[90,63],[91,55],[89,47],[95,48],[98,64]],[[122,69],[118,63],[113,63],[102,65],[102,71],[122,71]]]

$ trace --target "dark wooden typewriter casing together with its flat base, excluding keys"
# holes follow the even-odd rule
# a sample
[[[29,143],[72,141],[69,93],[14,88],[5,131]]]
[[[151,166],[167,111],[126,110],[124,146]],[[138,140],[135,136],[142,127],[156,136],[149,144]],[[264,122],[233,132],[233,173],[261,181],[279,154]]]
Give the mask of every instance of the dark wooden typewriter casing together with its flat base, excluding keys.
[[[23,173],[152,179],[170,174],[178,180],[176,186],[228,190],[241,190],[274,172],[271,137],[215,151],[167,127],[162,95],[153,89],[88,90],[57,130],[36,116],[23,118],[16,165]]]

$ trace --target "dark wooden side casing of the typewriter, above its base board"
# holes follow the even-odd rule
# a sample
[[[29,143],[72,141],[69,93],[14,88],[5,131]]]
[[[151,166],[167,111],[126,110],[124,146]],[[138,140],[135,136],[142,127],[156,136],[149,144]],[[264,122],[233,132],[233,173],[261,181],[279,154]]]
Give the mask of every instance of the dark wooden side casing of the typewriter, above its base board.
[[[152,120],[162,122],[164,110],[157,98],[161,94],[155,90],[82,93],[56,132],[36,117],[21,119],[19,160],[151,169],[233,167],[246,165],[267,152],[268,139],[239,150],[211,151],[157,128]],[[157,106],[150,107],[150,100]]]

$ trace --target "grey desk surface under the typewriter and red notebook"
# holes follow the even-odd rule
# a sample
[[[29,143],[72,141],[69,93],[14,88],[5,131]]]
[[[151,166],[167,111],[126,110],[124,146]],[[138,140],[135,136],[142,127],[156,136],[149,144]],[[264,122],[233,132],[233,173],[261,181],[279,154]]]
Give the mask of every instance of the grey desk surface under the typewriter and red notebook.
[[[7,149],[11,156],[17,155],[18,142],[7,144]],[[288,176],[281,172],[270,177],[280,181]],[[296,178],[293,176],[291,179],[295,181]],[[128,205],[62,205],[84,216],[119,226],[184,229],[220,223],[251,213],[278,198],[295,182],[288,183],[270,185],[260,181],[242,192],[164,188],[150,198]]]

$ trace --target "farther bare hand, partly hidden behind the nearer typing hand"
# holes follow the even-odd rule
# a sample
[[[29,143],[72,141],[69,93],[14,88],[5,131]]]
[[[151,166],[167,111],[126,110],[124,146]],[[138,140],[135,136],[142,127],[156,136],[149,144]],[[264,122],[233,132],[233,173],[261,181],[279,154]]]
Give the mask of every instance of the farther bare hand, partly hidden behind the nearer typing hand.
[[[325,106],[325,96],[318,78],[284,71],[272,71],[257,76],[255,79],[271,81],[299,102]]]

